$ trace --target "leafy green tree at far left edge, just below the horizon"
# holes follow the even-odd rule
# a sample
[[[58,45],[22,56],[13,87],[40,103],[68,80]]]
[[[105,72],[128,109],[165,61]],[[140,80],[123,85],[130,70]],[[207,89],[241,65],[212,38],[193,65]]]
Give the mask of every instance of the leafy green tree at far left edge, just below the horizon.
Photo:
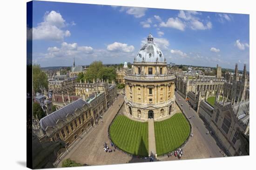
[[[33,90],[39,92],[40,88],[48,89],[48,78],[45,72],[40,69],[39,64],[33,65]]]

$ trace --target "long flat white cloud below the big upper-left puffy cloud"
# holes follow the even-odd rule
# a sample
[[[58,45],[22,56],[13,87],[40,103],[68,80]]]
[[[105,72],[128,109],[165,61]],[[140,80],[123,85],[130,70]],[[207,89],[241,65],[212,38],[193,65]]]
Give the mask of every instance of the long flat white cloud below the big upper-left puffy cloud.
[[[78,46],[77,43],[68,44],[66,42],[61,43],[61,48],[56,46],[49,47],[47,53],[43,54],[45,58],[54,58],[54,57],[77,57],[83,56],[85,54],[92,54],[94,49],[88,46]]]

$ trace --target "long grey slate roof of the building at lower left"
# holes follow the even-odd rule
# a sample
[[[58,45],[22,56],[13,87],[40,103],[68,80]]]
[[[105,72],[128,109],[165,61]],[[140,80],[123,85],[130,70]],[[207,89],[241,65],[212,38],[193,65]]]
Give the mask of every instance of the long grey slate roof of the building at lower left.
[[[77,101],[74,101],[42,118],[39,124],[41,128],[45,131],[47,126],[55,126],[57,120],[65,120],[68,113],[74,114],[75,109],[82,108],[84,104],[89,105],[88,102],[83,101],[82,99],[78,99]]]

